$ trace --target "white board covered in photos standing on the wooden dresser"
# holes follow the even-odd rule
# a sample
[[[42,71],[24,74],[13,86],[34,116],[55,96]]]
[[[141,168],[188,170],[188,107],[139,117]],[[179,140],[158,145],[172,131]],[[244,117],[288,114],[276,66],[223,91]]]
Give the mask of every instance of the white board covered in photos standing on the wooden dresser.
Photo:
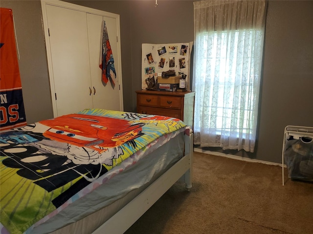
[[[162,72],[175,70],[176,76],[186,75],[186,88],[190,90],[190,54],[193,42],[168,44],[142,44],[141,88],[148,88]]]

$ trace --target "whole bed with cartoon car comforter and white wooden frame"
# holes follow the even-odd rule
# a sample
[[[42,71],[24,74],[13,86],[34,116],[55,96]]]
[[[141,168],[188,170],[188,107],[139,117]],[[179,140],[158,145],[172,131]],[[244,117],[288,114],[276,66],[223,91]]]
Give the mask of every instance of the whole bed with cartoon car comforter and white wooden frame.
[[[121,234],[177,180],[191,188],[177,118],[86,109],[0,139],[2,234]]]

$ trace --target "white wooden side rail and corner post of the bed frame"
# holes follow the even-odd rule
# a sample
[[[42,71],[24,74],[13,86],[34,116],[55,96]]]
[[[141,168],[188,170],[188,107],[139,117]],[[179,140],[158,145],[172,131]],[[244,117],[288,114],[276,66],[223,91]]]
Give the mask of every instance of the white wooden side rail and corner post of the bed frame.
[[[184,156],[92,234],[125,233],[179,178],[184,179],[188,191],[191,189],[193,134],[184,137]]]

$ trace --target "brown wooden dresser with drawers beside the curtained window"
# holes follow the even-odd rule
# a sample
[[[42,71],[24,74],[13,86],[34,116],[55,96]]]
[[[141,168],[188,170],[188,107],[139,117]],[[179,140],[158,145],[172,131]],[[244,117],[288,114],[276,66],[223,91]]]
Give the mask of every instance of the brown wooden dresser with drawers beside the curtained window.
[[[193,128],[195,92],[139,90],[137,112],[179,118]]]

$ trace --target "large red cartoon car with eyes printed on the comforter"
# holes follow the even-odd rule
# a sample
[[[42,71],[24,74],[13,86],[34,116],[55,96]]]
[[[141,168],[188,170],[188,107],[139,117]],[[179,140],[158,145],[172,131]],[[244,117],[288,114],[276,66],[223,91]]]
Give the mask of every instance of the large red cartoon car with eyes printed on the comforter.
[[[130,123],[125,119],[70,114],[40,121],[50,127],[43,133],[53,140],[89,147],[98,152],[119,146],[143,135],[144,123]]]

